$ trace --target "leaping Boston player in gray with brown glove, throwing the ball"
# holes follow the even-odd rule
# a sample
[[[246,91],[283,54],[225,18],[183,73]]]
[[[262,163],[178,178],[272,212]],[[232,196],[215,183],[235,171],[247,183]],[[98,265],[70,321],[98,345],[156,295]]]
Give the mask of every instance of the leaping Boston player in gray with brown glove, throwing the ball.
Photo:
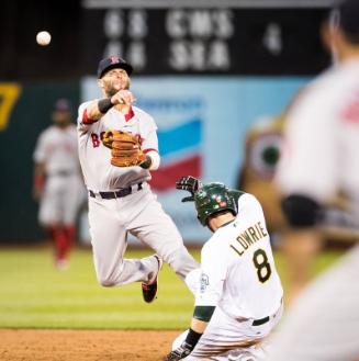
[[[145,302],[157,294],[162,260],[182,279],[198,263],[186,249],[170,217],[148,185],[159,166],[157,126],[133,106],[132,66],[113,56],[99,63],[103,98],[79,106],[79,156],[89,191],[89,224],[94,268],[103,286],[141,281]],[[127,234],[156,251],[124,259]]]

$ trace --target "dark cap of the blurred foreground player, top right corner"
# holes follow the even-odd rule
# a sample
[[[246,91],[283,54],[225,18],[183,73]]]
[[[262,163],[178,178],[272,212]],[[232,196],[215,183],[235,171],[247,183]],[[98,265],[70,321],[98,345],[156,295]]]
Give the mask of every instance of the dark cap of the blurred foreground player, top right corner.
[[[337,22],[340,29],[349,36],[359,38],[359,1],[344,0],[335,7]]]

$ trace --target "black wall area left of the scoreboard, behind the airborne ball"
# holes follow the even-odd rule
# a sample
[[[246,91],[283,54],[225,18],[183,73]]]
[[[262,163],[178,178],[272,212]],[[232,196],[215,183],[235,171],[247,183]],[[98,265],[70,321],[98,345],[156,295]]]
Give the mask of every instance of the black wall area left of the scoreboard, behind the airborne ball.
[[[1,0],[0,3],[0,81],[80,76],[80,1]],[[53,36],[49,46],[36,44],[36,34],[42,30]]]

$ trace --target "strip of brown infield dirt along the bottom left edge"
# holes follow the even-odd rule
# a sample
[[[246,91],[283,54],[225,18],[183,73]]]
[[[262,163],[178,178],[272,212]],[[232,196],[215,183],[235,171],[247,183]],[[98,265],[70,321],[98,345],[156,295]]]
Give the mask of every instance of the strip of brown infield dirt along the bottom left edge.
[[[0,330],[1,361],[160,361],[180,331]]]

